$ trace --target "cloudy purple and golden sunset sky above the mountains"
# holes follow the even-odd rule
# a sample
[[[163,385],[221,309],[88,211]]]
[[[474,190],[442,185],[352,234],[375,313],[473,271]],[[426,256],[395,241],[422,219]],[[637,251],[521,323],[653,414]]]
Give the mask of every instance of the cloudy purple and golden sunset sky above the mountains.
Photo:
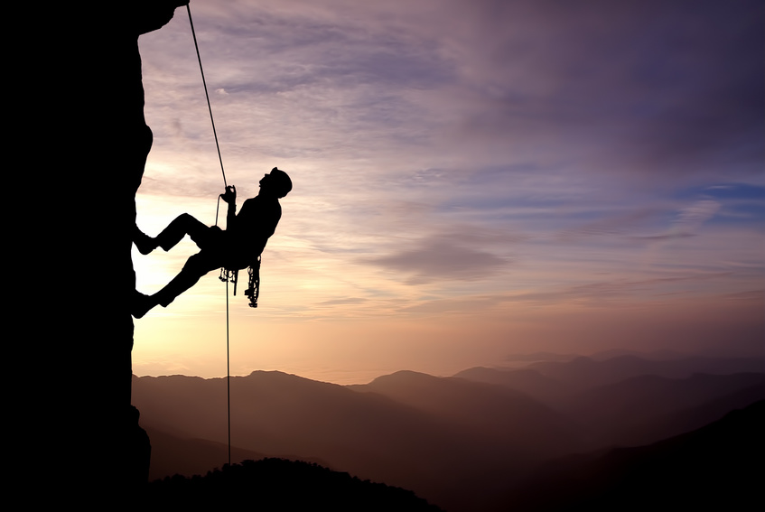
[[[761,1],[192,0],[191,14],[239,203],[273,167],[294,182],[259,307],[244,286],[229,296],[232,375],[765,354]],[[224,182],[185,9],[139,45],[154,146],[138,226],[212,225]],[[134,250],[138,290],[196,251]],[[135,321],[134,373],[225,376],[226,337],[210,273]]]

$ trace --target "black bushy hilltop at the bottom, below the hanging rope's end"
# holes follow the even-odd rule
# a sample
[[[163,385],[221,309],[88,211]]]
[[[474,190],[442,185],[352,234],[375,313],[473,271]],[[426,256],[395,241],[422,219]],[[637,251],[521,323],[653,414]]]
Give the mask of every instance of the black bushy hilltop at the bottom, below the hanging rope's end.
[[[229,506],[252,510],[440,510],[410,490],[285,459],[226,464],[204,477],[167,477],[149,484],[145,495],[145,507],[153,510]]]

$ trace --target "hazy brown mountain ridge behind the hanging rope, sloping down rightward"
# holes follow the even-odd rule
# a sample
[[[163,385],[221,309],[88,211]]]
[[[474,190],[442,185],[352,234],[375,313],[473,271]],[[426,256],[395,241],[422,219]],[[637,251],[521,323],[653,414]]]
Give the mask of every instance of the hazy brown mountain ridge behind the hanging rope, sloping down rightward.
[[[147,428],[226,442],[225,379],[140,377],[134,380],[133,396]],[[519,400],[526,408],[518,424],[541,425],[545,417],[555,421],[542,406],[536,407],[536,419],[527,420],[524,416],[534,407],[527,398]],[[482,491],[494,482],[518,479],[529,464],[541,461],[529,460],[527,452],[534,450],[523,439],[481,435],[470,422],[388,396],[280,372],[231,379],[231,422],[238,449],[326,461],[362,479],[413,489],[436,504],[448,503],[451,510],[475,509]],[[496,431],[490,425],[487,429]],[[528,441],[533,444],[532,438]]]

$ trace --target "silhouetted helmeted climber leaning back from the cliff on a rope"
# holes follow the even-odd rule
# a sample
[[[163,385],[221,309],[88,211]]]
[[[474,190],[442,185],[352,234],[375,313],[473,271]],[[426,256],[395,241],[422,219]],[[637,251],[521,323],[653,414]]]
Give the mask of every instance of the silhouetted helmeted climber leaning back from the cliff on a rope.
[[[208,227],[188,213],[174,219],[154,238],[136,226],[133,241],[141,254],[147,255],[157,247],[169,251],[186,235],[201,250],[191,256],[181,272],[159,292],[145,295],[136,291],[131,308],[133,316],[141,318],[158,304],[167,307],[210,270],[220,267],[239,270],[252,265],[263,252],[268,237],[274,234],[282,217],[279,199],[291,190],[292,181],[287,173],[274,168],[263,176],[257,196],[246,200],[238,215],[237,189],[230,186],[220,194],[229,203],[225,231],[217,226]]]

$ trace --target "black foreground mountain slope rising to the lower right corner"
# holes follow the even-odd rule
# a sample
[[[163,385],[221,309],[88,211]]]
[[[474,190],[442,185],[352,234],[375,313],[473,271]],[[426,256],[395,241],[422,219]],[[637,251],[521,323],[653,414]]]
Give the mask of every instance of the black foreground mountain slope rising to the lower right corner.
[[[662,442],[552,461],[498,509],[755,510],[765,481],[763,432],[760,401]]]

